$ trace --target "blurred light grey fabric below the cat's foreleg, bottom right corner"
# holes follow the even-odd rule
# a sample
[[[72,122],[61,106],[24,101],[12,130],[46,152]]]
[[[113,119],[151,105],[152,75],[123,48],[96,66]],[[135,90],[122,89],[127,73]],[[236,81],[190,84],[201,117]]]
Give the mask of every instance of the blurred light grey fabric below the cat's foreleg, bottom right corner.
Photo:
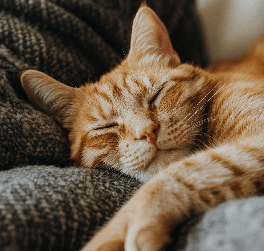
[[[171,251],[263,251],[264,197],[220,204],[176,235]]]

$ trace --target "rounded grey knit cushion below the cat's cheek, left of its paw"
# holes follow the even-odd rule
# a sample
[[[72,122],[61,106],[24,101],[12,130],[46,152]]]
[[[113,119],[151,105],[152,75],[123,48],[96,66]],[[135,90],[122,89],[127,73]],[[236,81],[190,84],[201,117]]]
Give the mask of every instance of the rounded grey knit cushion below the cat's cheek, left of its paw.
[[[0,250],[78,250],[139,184],[81,167],[0,173]]]

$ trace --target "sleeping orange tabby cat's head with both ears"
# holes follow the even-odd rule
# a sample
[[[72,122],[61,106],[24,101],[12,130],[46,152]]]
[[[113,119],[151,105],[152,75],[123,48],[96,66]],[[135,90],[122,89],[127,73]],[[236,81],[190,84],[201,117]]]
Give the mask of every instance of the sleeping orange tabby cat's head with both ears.
[[[97,83],[74,88],[34,70],[21,82],[32,103],[70,131],[77,164],[140,181],[194,149],[209,93],[202,69],[180,63],[146,6],[134,19],[127,58]]]

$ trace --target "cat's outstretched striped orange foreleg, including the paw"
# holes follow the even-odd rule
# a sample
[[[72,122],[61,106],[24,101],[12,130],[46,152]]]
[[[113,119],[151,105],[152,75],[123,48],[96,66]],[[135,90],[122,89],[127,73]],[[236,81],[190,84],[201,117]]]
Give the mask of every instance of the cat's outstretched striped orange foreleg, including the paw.
[[[82,251],[160,251],[173,228],[232,198],[264,191],[264,147],[245,140],[194,154],[144,184]]]

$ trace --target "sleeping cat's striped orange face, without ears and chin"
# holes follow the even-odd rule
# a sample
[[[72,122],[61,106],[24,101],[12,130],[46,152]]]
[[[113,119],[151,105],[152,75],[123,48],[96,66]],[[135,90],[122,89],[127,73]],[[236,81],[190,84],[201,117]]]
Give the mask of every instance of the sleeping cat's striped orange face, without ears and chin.
[[[77,163],[139,178],[158,153],[174,149],[175,159],[190,153],[202,126],[204,79],[192,66],[158,62],[129,66],[125,60],[99,83],[80,88],[83,105],[72,115],[70,133]]]

